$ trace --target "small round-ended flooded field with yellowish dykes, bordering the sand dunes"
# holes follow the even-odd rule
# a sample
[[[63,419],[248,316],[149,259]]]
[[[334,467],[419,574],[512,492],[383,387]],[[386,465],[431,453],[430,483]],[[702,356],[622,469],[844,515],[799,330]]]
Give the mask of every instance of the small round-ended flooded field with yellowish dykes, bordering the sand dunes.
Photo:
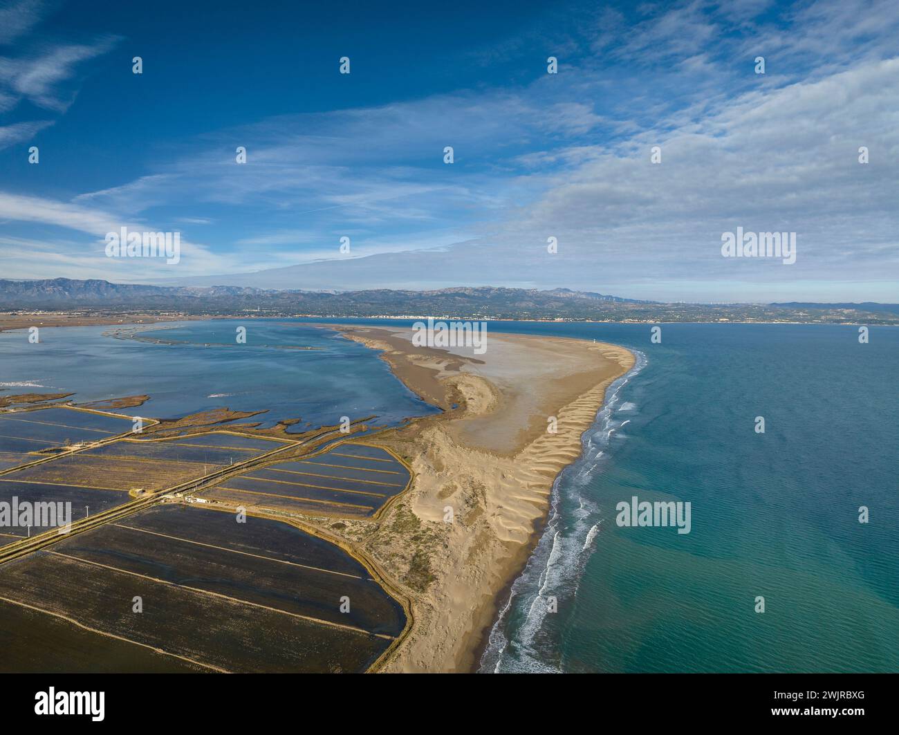
[[[227,479],[204,497],[231,504],[333,516],[370,517],[405,490],[409,471],[379,447],[341,444]]]

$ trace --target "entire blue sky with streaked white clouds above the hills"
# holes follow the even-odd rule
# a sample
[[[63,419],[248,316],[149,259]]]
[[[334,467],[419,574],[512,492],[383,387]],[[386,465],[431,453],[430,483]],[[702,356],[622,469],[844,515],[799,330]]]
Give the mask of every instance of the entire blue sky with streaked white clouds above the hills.
[[[897,123],[893,0],[0,3],[0,269],[897,302]]]

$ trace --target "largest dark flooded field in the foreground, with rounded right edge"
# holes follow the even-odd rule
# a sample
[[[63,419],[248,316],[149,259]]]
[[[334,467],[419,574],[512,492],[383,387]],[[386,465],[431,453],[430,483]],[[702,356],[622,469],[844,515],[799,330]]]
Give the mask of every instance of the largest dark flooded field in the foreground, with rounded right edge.
[[[403,631],[403,608],[338,546],[278,521],[245,521],[165,504],[7,562],[0,601],[54,623],[13,631],[19,611],[0,627],[21,651],[40,647],[31,639],[48,625],[70,621],[175,662],[158,665],[227,671],[365,670]],[[90,637],[78,630],[54,633],[66,660],[52,670],[109,670],[101,653],[111,644],[78,647],[72,635]],[[48,665],[38,661],[0,667]]]

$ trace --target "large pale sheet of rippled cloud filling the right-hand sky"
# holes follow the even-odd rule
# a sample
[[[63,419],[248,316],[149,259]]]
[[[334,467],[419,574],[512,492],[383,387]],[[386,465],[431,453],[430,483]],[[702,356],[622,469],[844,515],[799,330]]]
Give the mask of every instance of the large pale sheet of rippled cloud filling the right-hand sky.
[[[466,242],[234,282],[422,288],[476,279],[637,297],[824,300],[847,297],[848,287],[833,287],[845,279],[859,299],[899,301],[897,98],[899,58],[745,93],[699,122],[685,115],[678,128],[536,159],[547,165],[520,179],[539,196],[507,202]],[[658,165],[649,159],[656,144]],[[862,145],[870,164],[858,162]],[[722,258],[720,235],[737,226],[797,232],[797,263]],[[558,237],[556,255],[546,252],[548,235]]]

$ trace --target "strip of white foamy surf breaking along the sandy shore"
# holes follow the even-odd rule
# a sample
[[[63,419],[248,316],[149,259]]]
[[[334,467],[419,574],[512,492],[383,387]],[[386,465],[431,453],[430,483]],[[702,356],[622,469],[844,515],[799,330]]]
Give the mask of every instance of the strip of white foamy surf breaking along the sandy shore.
[[[636,352],[636,364],[621,376],[606,394],[606,401],[592,427],[583,433],[581,458],[563,470],[550,496],[547,527],[540,537],[521,576],[512,583],[509,598],[490,631],[481,672],[559,672],[554,647],[547,645],[545,623],[553,599],[556,604],[577,594],[583,567],[590,559],[593,541],[600,531],[600,508],[583,495],[592,476],[601,471],[611,439],[624,423],[618,421],[619,394],[622,386],[645,367],[646,358]],[[620,404],[628,412],[634,403]],[[620,439],[620,435],[619,435]],[[571,510],[567,508],[573,508]],[[563,509],[567,510],[563,510]],[[523,615],[512,639],[507,637],[510,615]]]

